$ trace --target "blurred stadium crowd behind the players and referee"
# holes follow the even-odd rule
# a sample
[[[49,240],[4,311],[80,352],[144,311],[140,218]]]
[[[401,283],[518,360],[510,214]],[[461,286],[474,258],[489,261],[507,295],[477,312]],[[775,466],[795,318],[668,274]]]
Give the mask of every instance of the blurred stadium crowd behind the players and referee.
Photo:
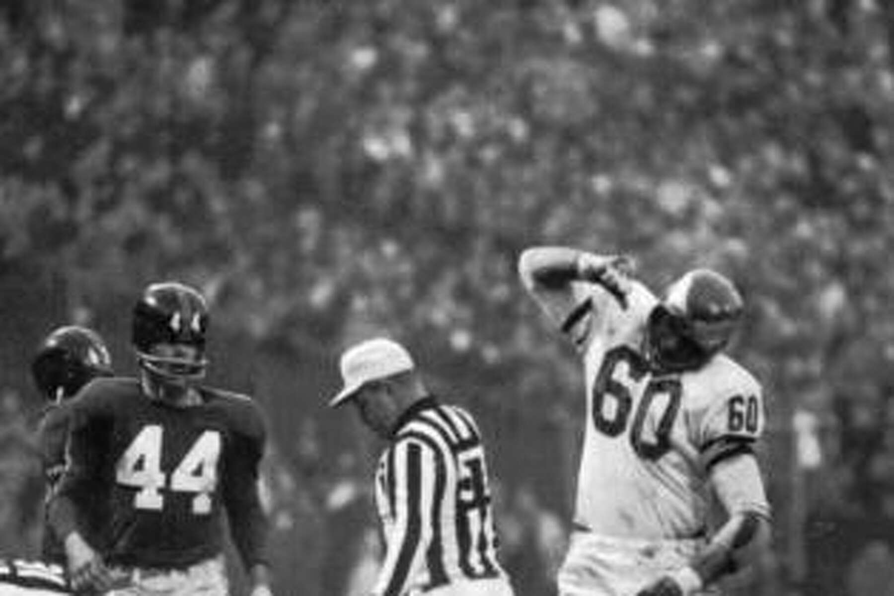
[[[892,126],[886,0],[4,0],[0,555],[38,553],[38,340],[92,325],[131,373],[133,300],[176,279],[270,420],[276,593],[368,591],[379,446],[324,403],[387,332],[482,421],[549,596],[582,379],[515,259],[562,244],[743,290],[776,535],[733,592],[892,594]]]

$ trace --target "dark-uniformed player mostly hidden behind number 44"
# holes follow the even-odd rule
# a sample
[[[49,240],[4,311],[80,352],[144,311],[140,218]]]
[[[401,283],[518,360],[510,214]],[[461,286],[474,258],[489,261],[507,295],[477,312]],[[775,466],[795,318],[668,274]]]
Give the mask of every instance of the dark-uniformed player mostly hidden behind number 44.
[[[52,494],[62,475],[65,459],[65,437],[68,428],[69,399],[85,384],[98,376],[112,375],[112,358],[105,341],[97,332],[78,325],[56,328],[40,342],[31,360],[31,376],[45,400],[40,416],[38,438],[46,476],[47,495]],[[99,533],[104,517],[102,503],[86,501],[80,522],[84,538],[102,549]],[[62,541],[45,525],[42,557],[50,563],[64,563]]]

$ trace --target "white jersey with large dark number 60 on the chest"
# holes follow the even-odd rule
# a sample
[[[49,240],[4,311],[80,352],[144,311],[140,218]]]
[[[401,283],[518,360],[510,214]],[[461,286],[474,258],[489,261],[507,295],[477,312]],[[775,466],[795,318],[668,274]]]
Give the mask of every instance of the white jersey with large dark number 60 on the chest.
[[[760,385],[723,355],[696,371],[654,374],[641,346],[657,298],[633,282],[622,308],[600,286],[571,285],[574,306],[559,323],[586,375],[575,524],[621,538],[703,536],[710,467],[751,449],[763,432]]]

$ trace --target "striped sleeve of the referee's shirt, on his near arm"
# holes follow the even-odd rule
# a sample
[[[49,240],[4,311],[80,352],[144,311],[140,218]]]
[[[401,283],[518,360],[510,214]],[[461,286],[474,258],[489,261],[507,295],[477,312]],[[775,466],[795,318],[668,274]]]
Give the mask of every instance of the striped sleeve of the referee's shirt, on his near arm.
[[[393,446],[389,474],[394,523],[386,537],[387,550],[375,583],[375,594],[400,596],[409,579],[426,565],[426,549],[432,540],[435,505],[443,499],[443,464],[437,449],[426,441],[401,438]],[[442,477],[439,477],[442,476]]]

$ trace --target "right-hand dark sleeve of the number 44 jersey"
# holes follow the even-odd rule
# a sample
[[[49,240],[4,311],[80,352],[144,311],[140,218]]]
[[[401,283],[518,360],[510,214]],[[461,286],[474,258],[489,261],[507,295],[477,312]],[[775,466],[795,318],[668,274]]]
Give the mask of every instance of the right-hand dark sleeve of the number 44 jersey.
[[[237,414],[223,468],[223,502],[233,543],[246,569],[267,565],[268,520],[260,496],[260,464],[266,446],[266,424],[253,402]]]

